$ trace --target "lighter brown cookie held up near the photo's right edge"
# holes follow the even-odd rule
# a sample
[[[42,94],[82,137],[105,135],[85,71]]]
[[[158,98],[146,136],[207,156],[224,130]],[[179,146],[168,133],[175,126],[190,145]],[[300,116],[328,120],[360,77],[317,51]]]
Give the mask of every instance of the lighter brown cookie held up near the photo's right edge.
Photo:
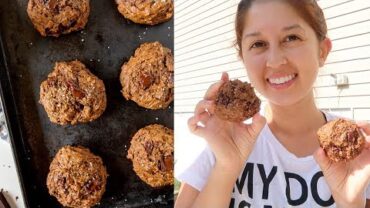
[[[348,161],[357,157],[365,147],[365,137],[357,125],[342,118],[322,126],[318,131],[320,146],[334,162]]]

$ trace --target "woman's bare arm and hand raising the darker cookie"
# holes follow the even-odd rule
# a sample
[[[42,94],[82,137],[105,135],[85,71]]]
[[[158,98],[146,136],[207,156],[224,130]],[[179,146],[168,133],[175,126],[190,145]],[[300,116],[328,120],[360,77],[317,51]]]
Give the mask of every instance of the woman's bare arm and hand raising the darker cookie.
[[[207,141],[216,162],[199,194],[188,191],[185,186],[185,192],[179,195],[178,208],[228,207],[236,179],[266,124],[266,119],[259,113],[253,116],[251,124],[225,121],[214,114],[217,91],[228,79],[227,73],[223,73],[221,80],[207,90],[204,99],[197,104],[194,116],[188,120],[189,130]]]

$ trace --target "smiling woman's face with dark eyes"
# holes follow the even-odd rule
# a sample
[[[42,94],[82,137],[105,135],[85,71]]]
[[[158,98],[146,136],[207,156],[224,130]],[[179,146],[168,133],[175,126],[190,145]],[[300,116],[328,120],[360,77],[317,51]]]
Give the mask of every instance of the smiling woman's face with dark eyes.
[[[324,63],[321,45],[313,29],[286,3],[257,2],[246,14],[243,62],[252,85],[271,103],[288,106],[312,96]]]

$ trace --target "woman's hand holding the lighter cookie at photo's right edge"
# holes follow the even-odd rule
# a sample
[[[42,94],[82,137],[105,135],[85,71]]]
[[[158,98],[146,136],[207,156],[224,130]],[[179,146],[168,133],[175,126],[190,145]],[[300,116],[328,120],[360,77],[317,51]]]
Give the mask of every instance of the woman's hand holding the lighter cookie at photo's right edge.
[[[338,207],[365,207],[365,192],[370,182],[370,124],[358,122],[364,131],[365,148],[355,159],[347,162],[332,162],[319,148],[315,159],[320,165],[334,201]]]

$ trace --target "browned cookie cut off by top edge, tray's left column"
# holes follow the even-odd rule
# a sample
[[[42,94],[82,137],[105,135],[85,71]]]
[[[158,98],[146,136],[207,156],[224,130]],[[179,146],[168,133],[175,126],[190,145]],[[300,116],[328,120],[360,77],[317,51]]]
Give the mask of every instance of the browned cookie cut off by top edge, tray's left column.
[[[27,13],[42,36],[58,37],[85,27],[90,0],[29,0]]]

